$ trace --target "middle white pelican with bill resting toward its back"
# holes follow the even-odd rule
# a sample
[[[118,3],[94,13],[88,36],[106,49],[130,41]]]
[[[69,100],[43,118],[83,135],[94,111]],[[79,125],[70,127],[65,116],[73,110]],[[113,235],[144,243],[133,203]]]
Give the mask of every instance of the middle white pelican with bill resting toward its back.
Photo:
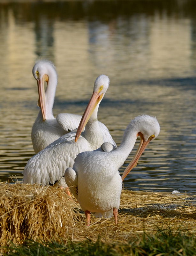
[[[63,135],[31,157],[23,171],[24,183],[42,183],[43,186],[49,183],[54,184],[55,181],[61,179],[68,167],[73,166],[74,159],[80,152],[97,149],[103,142],[112,141],[112,144],[116,147],[116,143],[112,140],[106,126],[97,121],[99,104],[108,86],[108,76],[101,75],[97,77],[94,82],[93,95],[83,114],[77,133],[75,130]],[[85,131],[82,132],[84,126]],[[106,131],[108,131],[107,137],[109,137],[109,140],[105,136]],[[82,135],[79,137],[81,132]],[[74,141],[75,137],[77,139],[79,137],[77,142]],[[65,184],[64,187],[67,187],[67,185]]]

